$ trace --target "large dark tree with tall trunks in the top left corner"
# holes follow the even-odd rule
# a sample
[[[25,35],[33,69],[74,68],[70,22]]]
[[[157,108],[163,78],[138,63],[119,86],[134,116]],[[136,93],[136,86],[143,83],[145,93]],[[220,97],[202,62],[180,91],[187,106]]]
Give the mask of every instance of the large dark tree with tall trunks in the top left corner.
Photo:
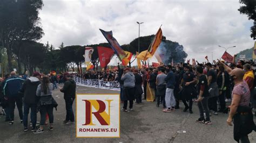
[[[43,30],[39,26],[39,10],[42,0],[37,1],[0,1],[0,41],[6,48],[9,70],[12,70],[12,48],[17,46],[18,71],[21,72],[21,41],[42,38]]]

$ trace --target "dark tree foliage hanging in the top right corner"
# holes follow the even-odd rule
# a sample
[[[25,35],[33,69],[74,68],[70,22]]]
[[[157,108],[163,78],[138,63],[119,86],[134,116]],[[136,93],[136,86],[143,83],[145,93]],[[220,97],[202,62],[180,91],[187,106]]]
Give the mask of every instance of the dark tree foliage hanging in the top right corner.
[[[254,20],[251,27],[251,38],[256,39],[256,1],[255,0],[240,0],[239,3],[244,4],[240,6],[238,11],[241,14],[247,15],[249,20]]]

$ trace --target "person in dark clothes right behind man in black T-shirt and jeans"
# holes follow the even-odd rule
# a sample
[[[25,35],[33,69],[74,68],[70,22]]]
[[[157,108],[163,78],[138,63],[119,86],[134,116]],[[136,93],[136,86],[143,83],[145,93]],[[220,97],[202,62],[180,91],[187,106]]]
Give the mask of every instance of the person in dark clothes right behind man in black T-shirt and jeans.
[[[210,62],[205,64],[207,68],[207,76],[208,76],[208,87],[210,92],[209,98],[209,108],[213,110],[213,115],[218,115],[218,108],[217,108],[217,100],[219,96],[219,89],[217,84],[217,73],[214,69],[212,69],[212,64]]]

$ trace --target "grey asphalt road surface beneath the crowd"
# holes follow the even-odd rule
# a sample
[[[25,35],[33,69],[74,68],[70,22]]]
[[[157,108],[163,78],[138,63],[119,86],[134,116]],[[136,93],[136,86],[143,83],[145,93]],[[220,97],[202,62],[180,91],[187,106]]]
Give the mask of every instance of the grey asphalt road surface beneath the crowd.
[[[78,87],[77,93],[118,93],[113,90]],[[42,134],[23,132],[23,125],[19,123],[18,113],[15,113],[15,124],[4,122],[0,116],[0,142],[235,142],[231,126],[226,125],[227,115],[212,116],[213,125],[195,123],[198,118],[197,106],[193,107],[193,114],[180,110],[163,113],[156,108],[155,103],[145,102],[134,105],[132,112],[120,112],[120,138],[75,138],[75,124],[63,125],[65,117],[65,103],[63,94],[53,91],[58,102],[58,111],[54,111],[55,128],[45,130]],[[75,108],[75,104],[73,105]],[[38,114],[38,119],[39,119]],[[46,127],[45,127],[46,128]],[[186,131],[186,133],[177,133]],[[250,134],[251,142],[256,142],[256,133]]]

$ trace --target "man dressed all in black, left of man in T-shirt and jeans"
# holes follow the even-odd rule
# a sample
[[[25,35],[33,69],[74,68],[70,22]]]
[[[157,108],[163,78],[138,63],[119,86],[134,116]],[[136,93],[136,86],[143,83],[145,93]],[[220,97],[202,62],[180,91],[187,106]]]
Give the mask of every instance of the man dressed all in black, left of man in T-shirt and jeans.
[[[194,94],[194,84],[197,82],[197,78],[194,75],[192,71],[190,71],[189,66],[184,67],[185,73],[183,74],[183,80],[181,81],[181,85],[183,85],[183,88],[181,89],[181,99],[183,104],[185,105],[185,109],[183,112],[186,112],[188,109],[190,113],[193,113],[192,111],[192,97]],[[180,85],[180,88],[181,88]],[[189,106],[187,105],[187,101],[189,102]]]

